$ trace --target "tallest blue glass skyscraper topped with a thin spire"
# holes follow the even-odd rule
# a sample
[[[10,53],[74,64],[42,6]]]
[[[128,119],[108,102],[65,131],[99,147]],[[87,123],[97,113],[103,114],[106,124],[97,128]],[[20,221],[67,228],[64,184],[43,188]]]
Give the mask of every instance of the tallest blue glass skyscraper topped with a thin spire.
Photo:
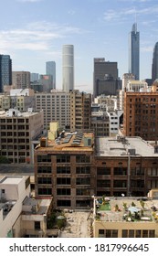
[[[140,79],[140,32],[137,31],[137,24],[132,25],[129,40],[129,73]]]

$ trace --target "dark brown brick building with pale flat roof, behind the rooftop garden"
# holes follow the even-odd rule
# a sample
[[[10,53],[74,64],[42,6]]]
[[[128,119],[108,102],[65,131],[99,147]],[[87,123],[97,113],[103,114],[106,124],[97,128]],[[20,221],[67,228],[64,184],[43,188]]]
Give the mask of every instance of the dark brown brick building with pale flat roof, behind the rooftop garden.
[[[158,187],[157,146],[140,137],[95,140],[96,194],[142,197]]]

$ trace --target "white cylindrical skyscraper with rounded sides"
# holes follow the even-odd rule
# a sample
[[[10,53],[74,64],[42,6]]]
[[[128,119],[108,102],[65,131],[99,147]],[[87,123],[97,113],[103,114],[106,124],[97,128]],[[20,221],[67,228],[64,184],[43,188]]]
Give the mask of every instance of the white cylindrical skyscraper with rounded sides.
[[[74,90],[74,47],[64,45],[62,49],[62,89]]]

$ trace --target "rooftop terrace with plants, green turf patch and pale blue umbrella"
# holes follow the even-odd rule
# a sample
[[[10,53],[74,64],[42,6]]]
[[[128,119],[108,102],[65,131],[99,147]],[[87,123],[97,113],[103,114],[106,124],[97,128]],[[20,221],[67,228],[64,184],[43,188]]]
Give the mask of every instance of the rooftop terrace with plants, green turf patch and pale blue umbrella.
[[[95,219],[100,221],[158,221],[158,200],[147,197],[95,197]]]

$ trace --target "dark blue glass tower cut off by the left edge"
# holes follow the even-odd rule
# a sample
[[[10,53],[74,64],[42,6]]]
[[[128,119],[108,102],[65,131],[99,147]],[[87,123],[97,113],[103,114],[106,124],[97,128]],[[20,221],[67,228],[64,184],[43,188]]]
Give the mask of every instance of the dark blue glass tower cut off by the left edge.
[[[0,55],[0,92],[5,85],[12,84],[12,59],[9,55]]]

